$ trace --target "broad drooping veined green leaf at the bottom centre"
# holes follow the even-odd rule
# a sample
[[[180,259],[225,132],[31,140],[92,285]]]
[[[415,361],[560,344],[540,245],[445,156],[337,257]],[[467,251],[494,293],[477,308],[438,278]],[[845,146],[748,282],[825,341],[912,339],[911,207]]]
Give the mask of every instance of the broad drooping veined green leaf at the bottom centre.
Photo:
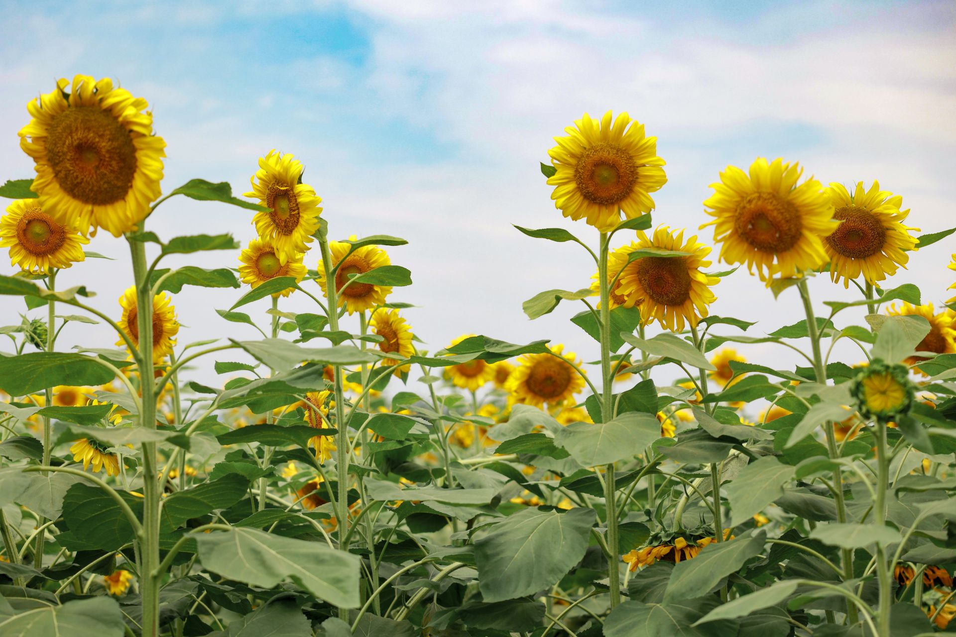
[[[556,584],[587,550],[596,514],[524,509],[475,542],[479,589],[485,602],[530,595]]]

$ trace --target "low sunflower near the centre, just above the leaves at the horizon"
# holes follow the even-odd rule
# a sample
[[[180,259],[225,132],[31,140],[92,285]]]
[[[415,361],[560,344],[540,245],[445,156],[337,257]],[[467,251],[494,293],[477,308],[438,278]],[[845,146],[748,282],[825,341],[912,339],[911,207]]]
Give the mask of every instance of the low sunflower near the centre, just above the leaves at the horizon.
[[[580,366],[575,353],[564,353],[563,345],[548,347],[554,355],[523,354],[518,359],[518,368],[508,379],[515,402],[533,407],[573,405],[575,394],[584,389],[584,377],[573,367]]]

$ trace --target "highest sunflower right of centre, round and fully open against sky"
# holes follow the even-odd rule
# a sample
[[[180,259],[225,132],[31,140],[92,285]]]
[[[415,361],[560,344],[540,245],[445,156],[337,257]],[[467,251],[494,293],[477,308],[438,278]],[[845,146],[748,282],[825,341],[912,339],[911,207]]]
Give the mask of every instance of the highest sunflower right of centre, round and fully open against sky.
[[[568,137],[554,138],[548,155],[554,164],[554,206],[565,217],[609,232],[624,219],[640,217],[654,208],[650,194],[667,182],[657,156],[657,138],[644,137],[644,127],[631,123],[626,113],[612,123],[611,111],[598,122],[587,113],[564,129]]]

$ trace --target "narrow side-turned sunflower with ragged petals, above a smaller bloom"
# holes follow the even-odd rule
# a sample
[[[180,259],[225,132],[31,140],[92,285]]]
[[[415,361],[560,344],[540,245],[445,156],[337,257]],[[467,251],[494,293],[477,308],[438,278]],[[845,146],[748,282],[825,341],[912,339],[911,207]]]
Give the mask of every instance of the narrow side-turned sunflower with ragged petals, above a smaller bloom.
[[[271,210],[255,213],[252,223],[261,239],[271,241],[280,265],[309,249],[306,244],[312,243],[322,212],[322,198],[301,182],[302,171],[301,161],[271,150],[259,159],[259,170],[250,178],[252,190],[244,195]]]

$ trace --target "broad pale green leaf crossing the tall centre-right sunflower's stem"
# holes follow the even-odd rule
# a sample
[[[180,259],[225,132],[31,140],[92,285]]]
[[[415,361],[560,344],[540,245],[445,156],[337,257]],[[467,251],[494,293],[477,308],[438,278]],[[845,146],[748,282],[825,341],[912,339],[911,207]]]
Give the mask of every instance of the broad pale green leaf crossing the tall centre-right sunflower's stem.
[[[554,444],[585,467],[594,467],[635,457],[659,437],[657,415],[628,412],[610,422],[574,422],[554,435]]]

